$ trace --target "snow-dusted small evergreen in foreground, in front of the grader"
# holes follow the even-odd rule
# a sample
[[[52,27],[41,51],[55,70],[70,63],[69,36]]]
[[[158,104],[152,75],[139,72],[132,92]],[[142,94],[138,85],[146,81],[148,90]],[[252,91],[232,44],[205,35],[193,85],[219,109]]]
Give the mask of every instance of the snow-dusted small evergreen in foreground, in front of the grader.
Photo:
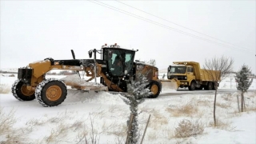
[[[133,115],[131,129],[129,131],[128,143],[138,143],[138,105],[144,102],[144,98],[149,97],[151,92],[147,88],[148,80],[143,74],[138,74],[137,78],[133,80],[130,78],[130,83],[127,85],[127,94],[121,97],[127,105],[130,106],[130,114]]]

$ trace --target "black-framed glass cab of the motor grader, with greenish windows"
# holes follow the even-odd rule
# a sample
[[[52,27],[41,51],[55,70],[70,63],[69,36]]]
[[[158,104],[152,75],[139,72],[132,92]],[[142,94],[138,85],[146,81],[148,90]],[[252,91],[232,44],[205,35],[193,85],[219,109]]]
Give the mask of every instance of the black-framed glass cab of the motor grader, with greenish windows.
[[[113,76],[124,76],[132,74],[134,63],[134,50],[121,48],[104,48],[103,60],[106,60],[108,72]]]

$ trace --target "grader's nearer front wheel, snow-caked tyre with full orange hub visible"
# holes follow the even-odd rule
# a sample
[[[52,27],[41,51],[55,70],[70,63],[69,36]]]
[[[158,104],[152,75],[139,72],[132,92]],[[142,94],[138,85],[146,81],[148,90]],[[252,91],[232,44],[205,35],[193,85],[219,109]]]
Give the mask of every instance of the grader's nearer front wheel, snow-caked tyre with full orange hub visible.
[[[39,83],[35,96],[45,107],[58,106],[66,99],[66,85],[58,79],[49,78]]]

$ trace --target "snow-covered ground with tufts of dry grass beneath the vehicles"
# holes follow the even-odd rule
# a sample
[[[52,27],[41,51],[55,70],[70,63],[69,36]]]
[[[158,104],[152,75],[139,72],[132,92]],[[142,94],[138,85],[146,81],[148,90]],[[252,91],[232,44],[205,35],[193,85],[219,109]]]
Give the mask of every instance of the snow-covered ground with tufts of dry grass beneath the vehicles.
[[[68,90],[61,105],[43,107],[36,100],[15,99],[10,87],[17,74],[9,76],[0,75],[0,143],[125,143],[130,110],[120,94]],[[53,77],[65,76],[46,76]],[[141,134],[151,116],[143,143],[256,143],[256,80],[245,94],[244,113],[238,113],[240,94],[235,87],[234,77],[220,83],[220,90],[234,92],[217,95],[217,127],[213,126],[211,93],[196,94],[195,90],[195,94],[178,94],[180,91],[162,90],[158,98],[146,98],[139,106]],[[182,120],[186,120],[184,130]],[[186,134],[188,129],[193,132]]]

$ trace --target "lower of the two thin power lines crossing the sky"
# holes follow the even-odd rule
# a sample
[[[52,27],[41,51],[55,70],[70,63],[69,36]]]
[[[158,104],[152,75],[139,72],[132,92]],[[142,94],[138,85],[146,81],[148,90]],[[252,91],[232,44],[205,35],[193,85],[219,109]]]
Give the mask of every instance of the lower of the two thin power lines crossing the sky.
[[[90,1],[90,0],[89,0],[89,1]],[[221,46],[226,46],[226,47],[229,47],[229,48],[234,48],[234,46],[227,46],[226,44],[223,44],[223,43],[214,42],[214,41],[212,41],[212,40],[210,40],[210,39],[207,39],[207,38],[201,38],[201,37],[198,37],[198,36],[196,36],[196,35],[194,35],[194,34],[186,33],[186,32],[184,32],[184,31],[182,31],[182,30],[174,29],[174,28],[172,28],[172,27],[170,27],[170,26],[166,26],[166,25],[163,25],[163,24],[161,24],[161,23],[159,23],[159,22],[152,21],[152,20],[150,20],[150,19],[148,19],[148,18],[143,18],[143,17],[141,17],[141,16],[139,16],[139,15],[132,14],[132,13],[127,12],[127,11],[125,11],[125,10],[118,9],[118,8],[116,8],[116,7],[114,7],[114,6],[110,6],[110,5],[108,5],[108,4],[104,3],[104,2],[98,2],[98,1],[96,1],[96,0],[95,0],[95,1],[90,1],[90,2],[94,2],[94,3],[96,3],[96,4],[100,5],[100,6],[107,7],[107,8],[109,8],[109,9],[111,9],[111,10],[116,10],[116,11],[118,11],[118,12],[120,12],[120,13],[130,15],[130,16],[132,16],[132,17],[134,17],[134,18],[138,18],[138,19],[141,19],[141,20],[146,21],[146,22],[150,22],[150,23],[152,23],[152,24],[154,24],[154,25],[158,25],[158,26],[161,26],[161,27],[166,28],[166,29],[169,29],[169,30],[174,30],[174,31],[176,31],[176,32],[178,32],[178,33],[182,33],[182,34],[189,35],[190,37],[198,38],[198,39],[201,39],[201,40],[203,40],[203,41],[215,43],[215,44],[218,44],[218,45],[221,45]],[[242,51],[248,51],[248,50],[241,49],[241,48],[236,48],[236,49],[242,50]]]

